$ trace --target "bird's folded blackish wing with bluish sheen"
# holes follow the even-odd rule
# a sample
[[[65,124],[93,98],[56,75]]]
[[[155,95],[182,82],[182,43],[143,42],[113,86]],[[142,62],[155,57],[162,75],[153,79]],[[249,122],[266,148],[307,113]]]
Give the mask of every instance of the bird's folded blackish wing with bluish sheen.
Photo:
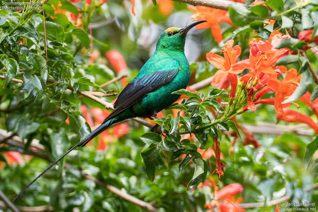
[[[114,103],[114,110],[107,116],[106,120],[113,118],[118,113],[134,105],[150,92],[169,83],[177,73],[177,70],[171,70],[169,72],[160,71],[145,75],[140,79],[132,80],[118,95]]]

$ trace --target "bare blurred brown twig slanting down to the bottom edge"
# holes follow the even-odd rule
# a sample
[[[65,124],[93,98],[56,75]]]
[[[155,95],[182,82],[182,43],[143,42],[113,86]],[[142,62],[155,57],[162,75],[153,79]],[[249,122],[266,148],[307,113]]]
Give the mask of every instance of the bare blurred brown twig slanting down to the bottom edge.
[[[95,178],[95,177],[93,177],[91,175],[84,174],[82,171],[81,171],[81,176],[84,177],[87,180],[91,180],[91,181],[95,182],[97,185],[99,185],[102,188],[105,188],[105,189],[111,191],[112,193],[120,196],[123,199],[128,200],[129,202],[135,203],[136,205],[139,205],[140,207],[142,207],[145,210],[148,210],[148,211],[151,211],[151,212],[157,212],[158,211],[151,204],[149,204],[147,202],[144,202],[144,201],[142,201],[142,200],[140,200],[140,199],[138,199],[138,198],[136,198],[136,197],[134,197],[132,195],[124,193],[120,189],[118,189],[118,188],[116,188],[114,186],[107,185],[107,184],[103,183],[102,181],[98,180],[97,178]]]

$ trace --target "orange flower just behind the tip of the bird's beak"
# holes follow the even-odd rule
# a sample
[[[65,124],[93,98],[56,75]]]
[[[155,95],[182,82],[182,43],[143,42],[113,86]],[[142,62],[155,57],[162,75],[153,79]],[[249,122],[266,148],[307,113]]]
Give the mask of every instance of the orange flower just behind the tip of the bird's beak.
[[[193,6],[188,6],[188,9],[194,12],[192,16],[193,19],[197,19],[197,21],[206,20],[208,22],[197,25],[197,29],[205,29],[211,27],[212,35],[216,42],[220,43],[222,41],[222,32],[221,28],[218,25],[219,23],[228,23],[232,25],[229,14],[225,10],[213,9],[210,7],[197,6],[197,8]]]

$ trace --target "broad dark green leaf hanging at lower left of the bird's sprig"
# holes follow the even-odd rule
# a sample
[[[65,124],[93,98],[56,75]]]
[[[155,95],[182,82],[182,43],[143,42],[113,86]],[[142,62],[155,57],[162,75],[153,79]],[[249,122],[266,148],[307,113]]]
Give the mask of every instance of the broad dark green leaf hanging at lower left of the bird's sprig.
[[[164,165],[164,161],[160,155],[161,147],[155,143],[151,143],[149,147],[142,150],[140,155],[145,163],[146,174],[148,179],[153,182],[155,180],[156,169]]]

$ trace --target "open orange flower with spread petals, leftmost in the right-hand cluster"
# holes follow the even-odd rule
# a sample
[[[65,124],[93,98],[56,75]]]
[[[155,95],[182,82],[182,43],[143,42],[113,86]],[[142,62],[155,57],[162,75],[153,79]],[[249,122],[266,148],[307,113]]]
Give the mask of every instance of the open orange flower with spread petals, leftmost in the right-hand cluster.
[[[228,77],[232,86],[230,94],[231,97],[234,96],[236,90],[236,74],[242,73],[244,70],[232,68],[232,65],[235,64],[235,62],[239,58],[239,55],[241,54],[241,48],[239,47],[239,45],[236,45],[232,48],[233,44],[234,40],[226,41],[223,48],[224,57],[214,54],[213,52],[209,52],[206,54],[206,58],[208,59],[209,63],[219,69],[214,74],[211,85],[218,86],[226,77]]]

